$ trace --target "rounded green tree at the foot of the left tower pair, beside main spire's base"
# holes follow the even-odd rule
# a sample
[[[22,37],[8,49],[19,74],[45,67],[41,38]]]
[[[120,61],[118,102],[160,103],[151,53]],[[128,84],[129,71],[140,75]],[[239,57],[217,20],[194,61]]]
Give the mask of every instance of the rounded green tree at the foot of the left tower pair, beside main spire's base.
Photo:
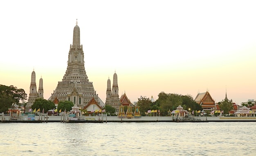
[[[34,110],[38,110],[40,108],[40,112],[43,112],[43,109],[45,112],[47,112],[48,110],[54,109],[55,104],[52,101],[46,100],[46,99],[42,99],[42,98],[38,98],[35,100],[35,102],[33,103],[33,105],[31,106],[31,109]]]

